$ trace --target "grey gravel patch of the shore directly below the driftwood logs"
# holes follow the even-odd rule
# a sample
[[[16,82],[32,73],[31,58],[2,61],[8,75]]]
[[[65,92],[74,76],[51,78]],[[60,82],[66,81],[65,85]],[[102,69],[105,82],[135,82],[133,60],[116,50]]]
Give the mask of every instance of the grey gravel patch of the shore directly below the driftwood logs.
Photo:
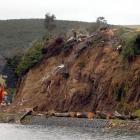
[[[31,125],[47,125],[47,126],[69,126],[69,127],[88,127],[88,128],[104,128],[109,125],[108,120],[102,119],[83,119],[83,118],[65,118],[65,117],[49,117],[35,116],[31,121]]]

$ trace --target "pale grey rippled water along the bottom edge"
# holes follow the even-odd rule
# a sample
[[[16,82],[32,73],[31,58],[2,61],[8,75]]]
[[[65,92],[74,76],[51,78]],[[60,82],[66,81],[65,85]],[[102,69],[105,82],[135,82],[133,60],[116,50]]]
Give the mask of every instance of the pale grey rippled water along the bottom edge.
[[[0,140],[140,140],[140,134],[81,127],[0,124]]]

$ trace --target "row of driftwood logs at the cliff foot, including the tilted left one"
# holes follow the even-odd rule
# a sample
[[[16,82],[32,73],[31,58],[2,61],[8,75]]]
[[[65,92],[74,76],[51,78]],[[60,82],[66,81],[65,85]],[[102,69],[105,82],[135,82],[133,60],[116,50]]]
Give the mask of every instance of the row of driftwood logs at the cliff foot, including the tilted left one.
[[[21,123],[22,120],[28,115],[31,115],[34,113],[34,111],[37,110],[37,107],[34,108],[26,108],[25,113],[20,117],[19,120],[16,121],[16,123]],[[55,116],[55,117],[75,117],[75,118],[100,118],[100,119],[121,119],[121,120],[133,120],[136,119],[137,116],[131,114],[131,115],[122,115],[115,111],[114,113],[107,113],[104,111],[96,111],[94,114],[93,112],[46,112],[46,114],[37,114],[39,116],[46,115],[46,117]]]

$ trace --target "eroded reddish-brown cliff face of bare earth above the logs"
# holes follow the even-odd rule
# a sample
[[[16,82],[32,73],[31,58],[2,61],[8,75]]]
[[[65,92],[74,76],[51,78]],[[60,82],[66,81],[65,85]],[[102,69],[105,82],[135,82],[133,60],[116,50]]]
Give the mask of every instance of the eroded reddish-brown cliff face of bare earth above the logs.
[[[22,78],[10,109],[131,112],[139,108],[140,57],[124,62],[112,48],[112,36],[94,42],[91,37],[67,46],[60,40],[46,46],[44,59]]]

